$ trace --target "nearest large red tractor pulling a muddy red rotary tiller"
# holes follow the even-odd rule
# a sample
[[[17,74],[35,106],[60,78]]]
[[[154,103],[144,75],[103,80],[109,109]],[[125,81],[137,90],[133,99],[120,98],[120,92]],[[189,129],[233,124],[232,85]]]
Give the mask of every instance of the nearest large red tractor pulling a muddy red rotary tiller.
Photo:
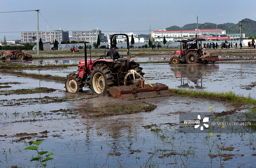
[[[124,35],[127,39],[127,57],[113,57],[112,40],[115,35]],[[113,34],[110,38],[109,56],[101,55],[98,59],[87,59],[84,43],[84,60],[79,61],[78,73],[70,73],[65,79],[68,92],[82,92],[83,87],[93,93],[111,95],[126,100],[161,97],[170,94],[168,86],[160,83],[150,84],[143,77],[140,64],[134,62],[135,56],[129,55],[129,38],[127,34]],[[91,50],[90,50],[91,54]],[[86,60],[86,63],[85,63]],[[144,84],[147,82],[148,84]]]

